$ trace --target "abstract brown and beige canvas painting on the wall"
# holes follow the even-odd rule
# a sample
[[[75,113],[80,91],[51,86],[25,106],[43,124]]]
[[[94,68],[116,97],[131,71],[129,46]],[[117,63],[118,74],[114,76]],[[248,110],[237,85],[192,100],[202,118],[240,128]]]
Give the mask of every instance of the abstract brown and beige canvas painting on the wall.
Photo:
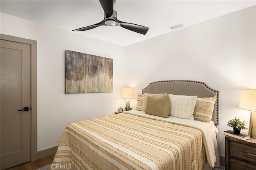
[[[113,92],[113,59],[66,50],[66,94]]]

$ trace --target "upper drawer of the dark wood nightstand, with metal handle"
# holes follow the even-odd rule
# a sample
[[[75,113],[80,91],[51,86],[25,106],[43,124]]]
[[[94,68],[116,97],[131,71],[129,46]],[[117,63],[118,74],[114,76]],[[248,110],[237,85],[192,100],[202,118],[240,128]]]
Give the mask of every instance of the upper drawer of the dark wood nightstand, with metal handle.
[[[230,141],[230,156],[256,163],[256,147]]]

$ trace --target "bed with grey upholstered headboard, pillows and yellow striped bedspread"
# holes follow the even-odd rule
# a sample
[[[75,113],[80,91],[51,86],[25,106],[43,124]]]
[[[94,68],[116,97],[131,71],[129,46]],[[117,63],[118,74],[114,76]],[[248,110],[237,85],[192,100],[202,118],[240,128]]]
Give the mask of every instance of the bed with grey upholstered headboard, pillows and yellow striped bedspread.
[[[201,114],[208,102],[211,116]],[[138,94],[136,110],[68,124],[51,167],[212,169],[220,166],[217,125],[217,90],[197,81],[152,82]]]

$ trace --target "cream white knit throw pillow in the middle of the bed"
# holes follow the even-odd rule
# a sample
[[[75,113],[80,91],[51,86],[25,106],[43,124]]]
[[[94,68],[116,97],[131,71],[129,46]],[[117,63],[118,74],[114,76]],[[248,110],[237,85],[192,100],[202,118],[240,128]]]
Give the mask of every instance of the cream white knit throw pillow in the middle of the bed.
[[[194,120],[193,112],[197,96],[183,96],[169,94],[171,107],[170,116]]]

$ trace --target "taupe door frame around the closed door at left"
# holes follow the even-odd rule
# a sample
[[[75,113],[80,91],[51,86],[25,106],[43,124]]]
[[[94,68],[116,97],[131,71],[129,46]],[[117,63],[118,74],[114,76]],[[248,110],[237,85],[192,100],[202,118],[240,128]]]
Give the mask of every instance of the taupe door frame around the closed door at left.
[[[30,161],[37,160],[37,41],[14,37],[11,35],[0,34],[0,39],[23,43],[30,45],[31,50],[31,146],[30,146]]]

